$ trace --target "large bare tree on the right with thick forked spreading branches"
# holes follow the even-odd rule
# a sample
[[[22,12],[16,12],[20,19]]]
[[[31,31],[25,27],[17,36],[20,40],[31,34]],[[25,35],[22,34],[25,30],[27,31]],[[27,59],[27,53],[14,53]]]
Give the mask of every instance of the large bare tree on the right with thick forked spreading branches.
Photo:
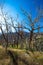
[[[25,29],[28,29],[29,32],[30,32],[29,49],[32,50],[32,46],[31,46],[31,45],[32,45],[32,38],[33,38],[33,36],[34,36],[34,31],[43,28],[43,26],[40,26],[40,27],[38,26],[38,25],[39,25],[39,20],[40,20],[41,18],[43,18],[43,11],[40,11],[40,12],[38,13],[37,17],[36,17],[34,20],[32,20],[31,14],[27,13],[27,12],[26,12],[25,10],[23,10],[23,9],[21,9],[21,10],[23,11],[23,14],[27,17],[27,20],[28,20],[28,23],[29,23],[29,24],[27,24],[27,23],[25,22],[28,27],[24,26],[24,28],[25,28]]]

